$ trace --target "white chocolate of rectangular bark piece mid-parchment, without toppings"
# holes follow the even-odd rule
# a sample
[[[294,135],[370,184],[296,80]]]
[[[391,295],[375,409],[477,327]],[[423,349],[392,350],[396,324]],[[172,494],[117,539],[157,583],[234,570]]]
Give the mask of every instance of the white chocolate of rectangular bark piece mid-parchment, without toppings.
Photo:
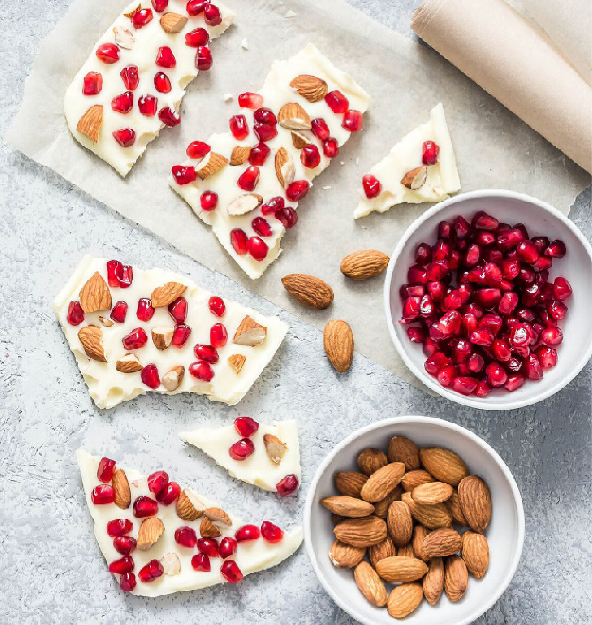
[[[278,116],[279,110],[284,104],[299,104],[311,120],[323,118],[329,128],[329,136],[335,138],[339,146],[343,146],[351,135],[349,130],[342,126],[343,113],[333,113],[322,97],[318,101],[309,101],[299,91],[290,86],[294,78],[303,74],[325,81],[329,92],[334,90],[341,91],[348,99],[350,109],[363,113],[368,108],[370,101],[368,94],[348,74],[336,68],[313,44],[308,44],[302,51],[287,61],[275,61],[273,63],[263,88],[258,92],[263,96],[263,106],[268,107]],[[213,153],[221,154],[229,161],[235,146],[253,147],[259,141],[253,130],[253,109],[241,108],[236,113],[244,115],[247,120],[249,134],[246,139],[238,141],[228,132],[214,134],[207,141]],[[331,159],[324,156],[321,141],[310,130],[301,129],[298,133],[303,136],[307,143],[316,146],[321,156],[318,167],[314,169],[304,167],[301,161],[301,149],[295,148],[293,144],[293,131],[284,128],[280,123],[277,124],[276,129],[278,131],[277,136],[266,142],[269,149],[271,149],[271,153],[264,164],[259,166],[259,181],[253,192],[261,196],[263,202],[268,201],[272,197],[283,197],[286,206],[295,209],[298,206],[298,201],[288,201],[286,189],[284,188],[285,184],[282,185],[276,176],[275,160],[279,149],[284,148],[293,163],[294,170],[290,178],[293,178],[294,181],[308,181],[309,184],[311,184],[315,176],[318,176],[327,168]],[[204,157],[203,161],[186,159],[182,164],[184,166],[193,166],[198,170],[208,158],[209,154]],[[246,214],[228,214],[228,207],[231,202],[238,196],[246,193],[246,191],[238,187],[237,181],[248,167],[248,161],[238,166],[226,164],[206,179],[202,180],[198,176],[193,183],[177,184],[176,180],[171,176],[169,183],[174,191],[178,192],[191,206],[198,217],[212,227],[220,244],[239,267],[251,279],[257,279],[281,253],[280,242],[286,229],[273,215],[265,216],[261,206]],[[214,191],[218,194],[218,204],[213,211],[204,211],[201,208],[199,197],[204,191]],[[308,192],[310,192],[310,189]],[[254,217],[263,217],[271,226],[271,236],[261,237],[269,248],[266,256],[261,261],[254,259],[250,254],[237,254],[230,241],[230,232],[235,228],[242,229],[248,237],[254,236],[256,232],[251,225]]]

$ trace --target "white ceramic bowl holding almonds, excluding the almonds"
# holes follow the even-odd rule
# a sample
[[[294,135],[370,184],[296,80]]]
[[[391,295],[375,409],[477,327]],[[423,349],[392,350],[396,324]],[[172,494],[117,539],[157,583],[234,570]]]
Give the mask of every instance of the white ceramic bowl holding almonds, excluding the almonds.
[[[491,522],[486,530],[489,542],[489,571],[481,580],[470,576],[466,595],[451,603],[443,594],[437,606],[423,601],[405,619],[406,625],[466,625],[499,599],[511,581],[524,544],[524,509],[518,486],[497,452],[483,439],[443,419],[402,416],[385,419],[359,429],[341,441],[324,459],[308,489],[304,507],[306,551],[321,584],[333,601],[364,625],[393,625],[386,611],[371,605],[359,592],[351,569],[340,569],[329,561],[333,544],[331,514],[319,501],[336,494],[333,476],[337,471],[358,471],[356,458],[365,447],[385,449],[394,434],[404,434],[419,447],[441,446],[456,452],[469,470],[489,484],[493,502]],[[391,589],[393,584],[386,584]]]

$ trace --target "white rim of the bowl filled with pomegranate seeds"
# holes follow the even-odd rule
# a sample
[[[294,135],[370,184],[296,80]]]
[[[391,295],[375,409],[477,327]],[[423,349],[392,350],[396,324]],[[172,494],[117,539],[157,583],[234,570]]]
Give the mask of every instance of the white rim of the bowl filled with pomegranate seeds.
[[[471,406],[473,408],[478,408],[481,410],[514,410],[516,408],[521,408],[524,406],[530,406],[531,404],[536,404],[536,402],[542,401],[551,395],[554,395],[556,392],[561,391],[569,382],[571,382],[574,377],[576,377],[579,372],[584,368],[586,362],[589,361],[592,356],[592,341],[589,343],[588,347],[583,352],[581,359],[578,361],[576,366],[573,367],[570,371],[566,371],[566,375],[559,380],[554,386],[547,389],[546,391],[541,391],[538,394],[533,394],[531,397],[526,397],[525,399],[516,400],[510,403],[507,402],[499,402],[494,401],[494,397],[473,397],[461,395],[460,393],[449,391],[444,388],[440,384],[437,384],[431,376],[428,376],[424,371],[421,371],[419,367],[416,367],[414,362],[411,361],[411,358],[407,355],[406,349],[404,348],[401,341],[399,341],[399,337],[396,334],[393,323],[393,314],[391,310],[391,286],[393,283],[393,272],[394,266],[403,251],[403,247],[409,241],[414,232],[416,232],[420,226],[424,224],[424,222],[428,221],[431,217],[433,217],[438,212],[452,206],[453,204],[458,204],[459,202],[464,202],[466,200],[481,198],[481,197],[504,197],[510,199],[518,199],[523,202],[529,202],[530,204],[534,204],[536,206],[541,207],[544,211],[549,212],[553,217],[556,217],[559,221],[563,223],[564,226],[571,231],[574,236],[581,242],[588,257],[590,258],[590,262],[592,263],[592,247],[590,246],[588,240],[582,232],[579,230],[578,226],[576,226],[573,222],[569,221],[568,217],[564,216],[563,213],[559,212],[556,208],[544,202],[543,200],[537,199],[536,197],[532,197],[527,195],[526,193],[518,193],[516,191],[506,191],[504,189],[482,189],[481,191],[469,191],[466,193],[460,193],[454,197],[449,197],[448,199],[439,202],[435,206],[428,209],[421,216],[419,216],[412,224],[408,227],[408,229],[404,232],[403,236],[399,240],[397,246],[394,248],[394,252],[391,255],[391,259],[389,261],[388,267],[384,274],[384,287],[383,287],[383,306],[384,306],[384,316],[386,317],[386,324],[388,326],[389,334],[391,335],[391,340],[394,343],[394,346],[403,362],[407,365],[409,371],[411,371],[415,377],[419,379],[419,381],[423,382],[426,386],[432,389],[434,392],[438,393],[442,397],[446,397],[446,399],[450,399],[451,401],[455,401],[458,404],[463,404],[464,406]]]

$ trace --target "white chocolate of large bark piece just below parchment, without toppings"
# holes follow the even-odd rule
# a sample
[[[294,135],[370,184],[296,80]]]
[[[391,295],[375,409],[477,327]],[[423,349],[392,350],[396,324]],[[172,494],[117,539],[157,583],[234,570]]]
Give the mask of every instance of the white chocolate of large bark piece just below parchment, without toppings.
[[[271,361],[288,331],[288,326],[278,317],[265,317],[259,312],[226,299],[224,299],[226,306],[224,314],[218,317],[209,308],[208,302],[211,294],[201,289],[187,277],[164,269],[143,270],[139,267],[133,267],[133,282],[128,288],[108,287],[112,307],[120,301],[128,304],[123,323],[111,320],[111,308],[108,307],[103,310],[87,312],[84,314],[84,321],[78,325],[72,325],[68,321],[70,302],[78,302],[81,299],[81,289],[96,272],[105,282],[108,282],[106,264],[106,259],[85,256],[54,301],[58,320],[66,339],[68,339],[69,346],[76,356],[91,397],[99,408],[111,408],[121,401],[132,399],[148,391],[166,394],[196,392],[205,394],[214,401],[236,404],[244,397],[264,367]],[[137,316],[138,301],[141,298],[150,299],[154,289],[162,287],[168,282],[176,282],[187,287],[186,291],[183,292],[183,297],[188,303],[184,324],[191,328],[191,333],[182,346],[169,344],[168,347],[159,349],[157,347],[159,337],[154,337],[153,331],[154,334],[162,334],[167,339],[169,332],[166,330],[174,329],[176,327],[175,322],[166,306],[157,307],[149,321],[140,321]],[[234,341],[234,335],[246,317],[266,329],[264,339],[259,344],[238,344]],[[216,350],[218,361],[210,364],[214,372],[211,380],[197,379],[189,373],[189,365],[198,361],[198,357],[194,354],[194,346],[196,344],[209,346],[211,342],[210,329],[214,324],[223,324],[228,332],[228,341]],[[104,361],[89,357],[88,351],[81,342],[80,331],[88,326],[96,326],[101,331]],[[146,344],[143,347],[138,347],[138,349],[126,349],[123,345],[123,337],[138,327],[141,327],[146,333],[148,339]],[[258,329],[261,330],[261,328]],[[261,332],[263,333],[262,330]],[[162,344],[159,346],[162,347]],[[126,354],[132,355],[126,356]],[[240,359],[243,364],[239,372],[229,362],[229,358],[237,354],[244,357],[244,360],[243,358]],[[156,364],[160,380],[159,386],[156,389],[146,386],[141,379],[141,371],[139,370],[132,372],[118,370],[118,361],[121,363],[121,361],[129,359],[137,359],[142,366],[149,363]],[[181,379],[178,387],[169,390],[165,387],[165,382],[169,388],[171,385],[168,384],[168,378],[164,379],[164,376],[176,366],[184,367],[183,379]]]

